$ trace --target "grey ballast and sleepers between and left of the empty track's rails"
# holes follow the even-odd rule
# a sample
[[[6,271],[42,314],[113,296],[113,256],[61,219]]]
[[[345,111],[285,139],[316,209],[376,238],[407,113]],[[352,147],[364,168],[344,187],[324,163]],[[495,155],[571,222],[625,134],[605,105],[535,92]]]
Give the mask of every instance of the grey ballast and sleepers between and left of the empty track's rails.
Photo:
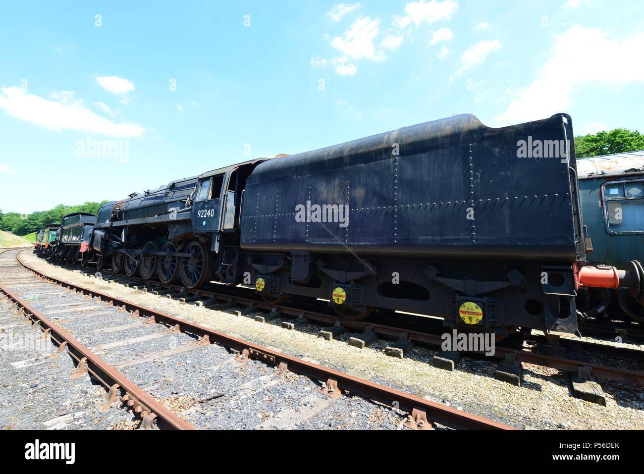
[[[8,267],[12,256],[0,256],[0,278],[3,283],[10,285],[10,289],[21,298],[29,299],[35,310],[51,318],[68,334],[90,347],[101,359],[114,365],[128,379],[195,428],[397,429],[404,421],[403,413],[397,410],[352,396],[329,399],[318,393],[321,385],[307,377],[291,373],[279,377],[276,368],[260,361],[236,361],[235,354],[223,346],[195,345],[194,339],[187,334],[170,334],[162,325],[145,325],[142,318],[106,305],[99,299],[68,290],[61,291],[52,283],[41,284],[39,280],[30,278],[26,270]],[[0,325],[1,321],[2,318]],[[10,323],[15,325],[15,319]],[[29,325],[15,328],[34,338],[39,335],[30,330]],[[12,334],[10,338],[18,340],[21,336]],[[134,338],[138,340],[133,341]],[[105,346],[110,343],[118,345]],[[52,416],[60,418],[56,404],[51,403],[48,396],[56,401],[59,396],[51,395],[51,392],[67,393],[77,387],[81,387],[79,390],[90,390],[82,388],[84,383],[92,390],[91,398],[70,395],[62,403],[66,408],[63,413],[70,412],[68,407],[77,408],[77,412],[71,412],[72,419],[68,424],[56,422],[53,428],[88,428],[89,422],[94,423],[93,428],[138,426],[138,421],[122,409],[109,410],[106,415],[99,417],[93,404],[104,397],[105,390],[92,385],[88,376],[82,377],[76,384],[71,383],[67,378],[73,370],[71,358],[61,355],[52,361],[47,356],[47,351],[50,352],[52,347],[48,344],[43,349],[44,354],[32,354],[32,358],[43,363],[23,364],[23,372],[18,376],[8,370],[10,364],[3,365],[4,369],[0,372],[0,380],[6,377],[19,381],[11,388],[20,390],[21,386],[30,384],[33,379],[31,374],[25,372],[26,369],[37,367],[41,378],[47,377],[55,369],[53,372],[58,377],[51,383],[38,382],[43,387],[43,394],[33,398],[28,405],[29,410],[45,412],[47,420]],[[17,350],[10,350],[12,347],[6,348],[1,354],[10,355],[12,360],[26,358]],[[168,353],[184,348],[189,351]],[[40,419],[25,421],[24,414],[15,403],[7,403],[3,410],[12,422],[6,424],[8,428],[39,428],[39,423],[43,422]]]

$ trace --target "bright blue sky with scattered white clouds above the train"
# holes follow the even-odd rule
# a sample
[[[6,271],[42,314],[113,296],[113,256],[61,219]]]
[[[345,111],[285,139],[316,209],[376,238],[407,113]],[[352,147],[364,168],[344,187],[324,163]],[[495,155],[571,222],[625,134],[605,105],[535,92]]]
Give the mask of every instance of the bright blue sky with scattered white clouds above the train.
[[[453,113],[644,131],[643,52],[641,1],[6,2],[0,209],[115,200]],[[104,140],[120,155],[92,156]]]

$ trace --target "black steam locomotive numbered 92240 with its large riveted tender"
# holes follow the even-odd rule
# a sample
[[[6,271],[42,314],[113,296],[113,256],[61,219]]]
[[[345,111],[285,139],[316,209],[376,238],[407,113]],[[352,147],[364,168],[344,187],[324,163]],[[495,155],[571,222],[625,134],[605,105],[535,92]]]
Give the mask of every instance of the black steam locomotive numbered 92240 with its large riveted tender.
[[[584,267],[572,138],[565,114],[504,128],[456,115],[252,160],[104,205],[91,258],[189,289],[327,299],[347,319],[384,308],[579,334],[585,281],[637,296],[644,272]]]

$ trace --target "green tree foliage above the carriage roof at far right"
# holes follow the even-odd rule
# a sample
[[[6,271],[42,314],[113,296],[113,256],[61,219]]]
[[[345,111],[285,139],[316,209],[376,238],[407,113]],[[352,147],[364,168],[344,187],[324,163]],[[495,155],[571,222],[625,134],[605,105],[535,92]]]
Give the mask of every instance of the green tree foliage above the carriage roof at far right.
[[[612,155],[625,151],[644,149],[644,135],[639,131],[616,128],[595,134],[574,137],[574,150],[577,158],[587,156]]]

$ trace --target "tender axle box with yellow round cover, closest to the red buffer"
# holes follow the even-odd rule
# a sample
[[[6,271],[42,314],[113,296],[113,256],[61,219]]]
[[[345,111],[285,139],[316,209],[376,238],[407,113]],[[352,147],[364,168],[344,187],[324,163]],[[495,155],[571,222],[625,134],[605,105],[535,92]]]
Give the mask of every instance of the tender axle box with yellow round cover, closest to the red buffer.
[[[504,326],[503,303],[486,296],[472,298],[453,294],[448,299],[447,318],[444,325],[462,328],[495,328]]]

